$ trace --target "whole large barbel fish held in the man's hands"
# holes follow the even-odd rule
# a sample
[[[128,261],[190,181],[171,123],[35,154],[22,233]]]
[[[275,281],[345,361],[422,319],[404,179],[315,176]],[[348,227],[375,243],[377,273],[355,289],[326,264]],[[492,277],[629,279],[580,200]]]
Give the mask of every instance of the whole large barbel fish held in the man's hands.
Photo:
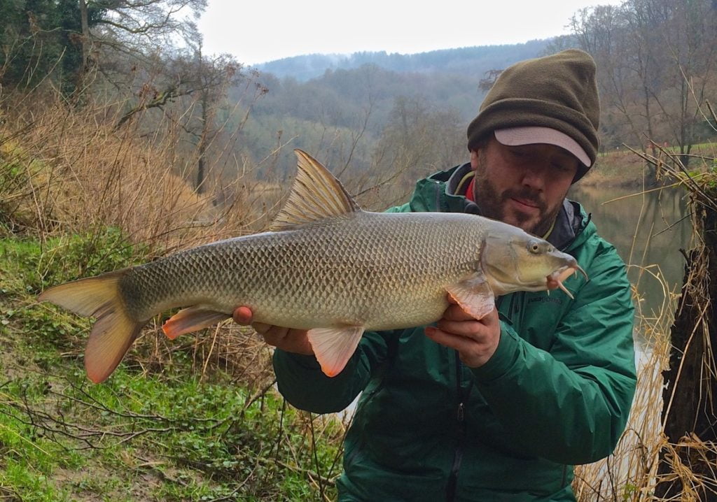
[[[364,211],[318,160],[295,150],[298,173],[270,228],[46,289],[94,317],[87,377],[106,380],[153,317],[170,339],[248,306],[255,322],[308,330],[321,370],[343,370],[366,331],[436,322],[448,295],[481,319],[495,297],[542,291],[580,271],[573,256],[515,226],[467,213]],[[555,282],[553,283],[555,284]]]

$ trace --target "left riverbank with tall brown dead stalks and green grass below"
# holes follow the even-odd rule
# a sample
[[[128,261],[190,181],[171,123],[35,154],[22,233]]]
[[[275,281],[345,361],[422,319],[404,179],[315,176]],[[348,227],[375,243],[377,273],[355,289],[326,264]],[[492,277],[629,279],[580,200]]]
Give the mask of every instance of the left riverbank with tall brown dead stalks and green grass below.
[[[48,286],[262,228],[261,186],[236,180],[234,203],[215,204],[185,181],[171,134],[118,135],[111,117],[98,123],[104,107],[27,102],[37,113],[9,107],[0,121],[0,500],[333,498],[345,427],[282,400],[250,330],[169,341],[156,317],[92,385],[90,320],[37,301]]]

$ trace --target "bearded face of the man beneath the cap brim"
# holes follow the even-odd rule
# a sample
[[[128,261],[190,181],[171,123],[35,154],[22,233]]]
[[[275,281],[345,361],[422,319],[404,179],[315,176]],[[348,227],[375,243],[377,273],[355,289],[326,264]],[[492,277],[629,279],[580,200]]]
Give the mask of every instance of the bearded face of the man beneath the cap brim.
[[[549,231],[577,172],[579,160],[555,145],[506,146],[491,136],[471,151],[474,196],[483,216],[536,236]]]

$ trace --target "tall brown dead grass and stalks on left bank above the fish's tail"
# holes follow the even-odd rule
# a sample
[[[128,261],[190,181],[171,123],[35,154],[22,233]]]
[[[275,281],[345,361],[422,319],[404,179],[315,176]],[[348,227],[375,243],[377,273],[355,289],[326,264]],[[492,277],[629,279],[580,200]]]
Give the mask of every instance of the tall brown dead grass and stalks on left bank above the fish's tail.
[[[161,135],[138,124],[115,130],[113,110],[120,107],[87,102],[72,108],[54,96],[44,97],[41,110],[5,110],[0,126],[0,204],[19,229],[47,235],[113,226],[166,252],[263,223],[265,207],[242,204],[257,192],[250,175],[224,183],[222,204],[217,190],[195,193],[187,179],[196,158],[178,148],[179,133],[169,130],[179,125],[158,123]]]

